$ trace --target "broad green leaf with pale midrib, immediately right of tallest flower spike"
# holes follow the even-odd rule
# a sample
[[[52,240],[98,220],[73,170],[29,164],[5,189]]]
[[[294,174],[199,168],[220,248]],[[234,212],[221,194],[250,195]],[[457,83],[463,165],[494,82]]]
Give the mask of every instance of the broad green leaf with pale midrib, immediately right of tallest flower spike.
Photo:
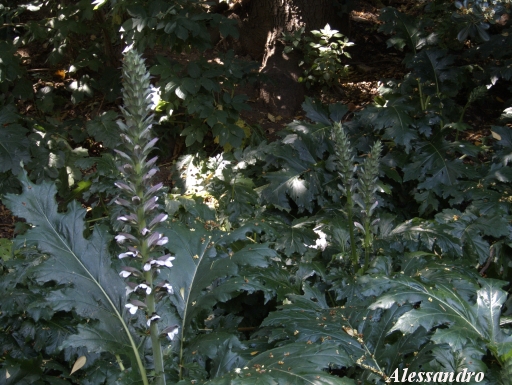
[[[174,287],[171,301],[182,319],[181,338],[189,333],[191,322],[200,312],[211,311],[217,302],[225,302],[246,289],[243,279],[228,280],[239,278],[239,266],[268,266],[267,260],[276,256],[264,244],[248,245],[228,255],[223,251],[227,234],[210,232],[203,226],[189,229],[176,222],[162,228],[162,232],[172,239],[168,248],[176,259],[171,269],[161,271],[160,277]]]

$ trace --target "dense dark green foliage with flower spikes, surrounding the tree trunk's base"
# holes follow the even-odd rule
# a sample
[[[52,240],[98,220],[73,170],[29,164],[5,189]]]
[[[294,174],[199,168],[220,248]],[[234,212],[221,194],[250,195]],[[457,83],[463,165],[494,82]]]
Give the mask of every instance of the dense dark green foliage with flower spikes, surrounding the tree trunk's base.
[[[408,368],[509,384],[510,108],[477,140],[466,115],[508,86],[512,34],[461,6],[384,8],[410,73],[356,113],[307,99],[271,143],[239,120],[251,64],[162,55],[148,72],[136,53],[236,36],[203,2],[2,6],[0,193],[26,223],[0,244],[0,383],[384,384]],[[73,78],[33,90],[14,55],[33,41]],[[121,89],[122,120],[56,112]],[[152,132],[186,138],[170,191]],[[215,141],[229,151],[207,154]]]

